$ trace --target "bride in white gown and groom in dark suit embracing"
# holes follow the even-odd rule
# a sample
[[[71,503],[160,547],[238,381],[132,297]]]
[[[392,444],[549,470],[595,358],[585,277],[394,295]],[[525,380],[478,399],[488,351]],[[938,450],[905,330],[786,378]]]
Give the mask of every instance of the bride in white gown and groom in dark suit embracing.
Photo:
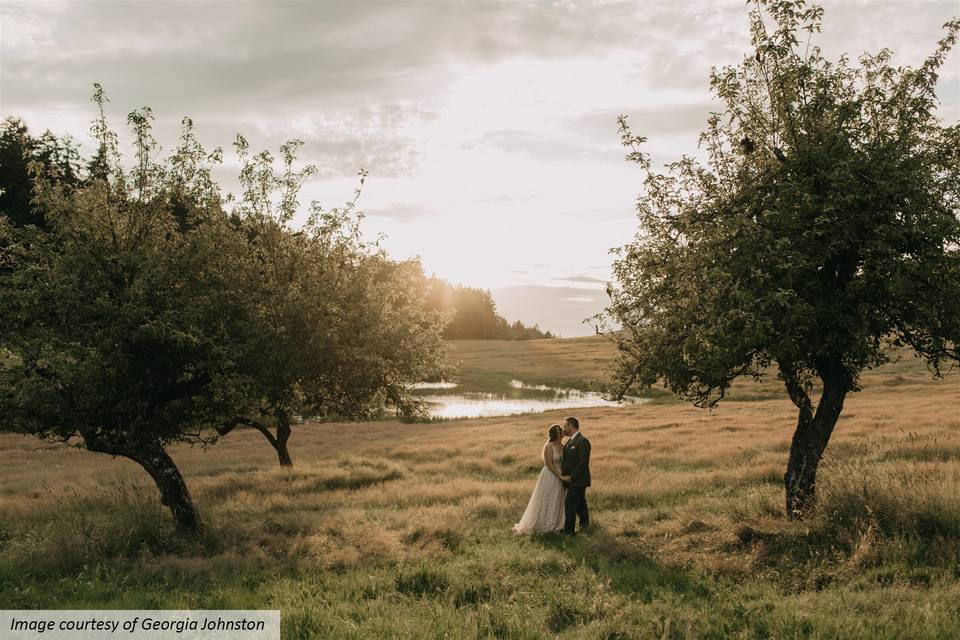
[[[566,442],[561,442],[566,436]],[[533,488],[514,533],[552,533],[575,535],[574,525],[590,526],[587,511],[587,487],[590,486],[590,441],[580,433],[580,421],[567,418],[563,427],[550,425],[549,440],[543,446],[543,470]]]

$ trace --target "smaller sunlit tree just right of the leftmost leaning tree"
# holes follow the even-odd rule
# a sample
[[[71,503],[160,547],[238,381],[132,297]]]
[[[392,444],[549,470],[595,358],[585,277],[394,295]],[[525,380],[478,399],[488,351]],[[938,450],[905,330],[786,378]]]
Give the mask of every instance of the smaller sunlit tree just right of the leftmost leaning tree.
[[[233,217],[250,239],[259,270],[256,330],[245,346],[244,370],[258,381],[255,412],[218,428],[260,431],[291,466],[288,441],[295,414],[367,418],[392,405],[404,415],[418,405],[410,385],[442,363],[442,314],[425,306],[425,279],[417,262],[395,263],[363,241],[354,199],[323,210],[316,203],[299,230],[290,225],[297,194],[312,166],[295,169],[298,140],[281,148],[283,172],[262,152],[251,158],[246,141],[243,194]],[[361,186],[366,177],[361,172]]]

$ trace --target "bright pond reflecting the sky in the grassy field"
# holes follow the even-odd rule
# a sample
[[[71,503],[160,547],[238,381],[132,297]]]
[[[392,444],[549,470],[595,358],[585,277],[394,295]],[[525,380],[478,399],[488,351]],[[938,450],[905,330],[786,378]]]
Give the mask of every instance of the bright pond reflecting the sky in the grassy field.
[[[486,418],[522,413],[540,413],[552,409],[617,407],[649,402],[646,398],[624,398],[614,402],[595,391],[564,389],[547,385],[528,385],[511,380],[502,392],[464,391],[452,382],[422,382],[414,393],[434,418]]]

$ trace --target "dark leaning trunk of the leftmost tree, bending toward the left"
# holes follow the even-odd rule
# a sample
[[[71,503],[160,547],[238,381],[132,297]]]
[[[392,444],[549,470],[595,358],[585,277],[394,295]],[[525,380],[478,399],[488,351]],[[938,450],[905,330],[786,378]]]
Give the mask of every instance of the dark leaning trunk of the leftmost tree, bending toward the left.
[[[159,442],[144,445],[116,443],[94,435],[85,435],[87,449],[111,456],[122,456],[143,467],[160,490],[160,503],[170,509],[177,531],[197,535],[203,531],[200,513],[193,504],[180,470]]]

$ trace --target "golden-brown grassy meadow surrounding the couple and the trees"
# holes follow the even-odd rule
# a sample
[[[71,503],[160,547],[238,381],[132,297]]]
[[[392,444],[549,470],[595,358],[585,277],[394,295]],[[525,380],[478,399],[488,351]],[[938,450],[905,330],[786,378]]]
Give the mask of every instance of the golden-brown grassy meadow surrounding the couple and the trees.
[[[612,353],[455,347],[476,384],[585,383]],[[284,638],[958,637],[960,375],[906,356],[862,382],[800,522],[775,380],[577,411],[595,526],[573,539],[510,531],[564,413],[299,425],[292,469],[247,430],[174,447],[194,540],[132,463],[0,434],[0,608],[278,608]]]

